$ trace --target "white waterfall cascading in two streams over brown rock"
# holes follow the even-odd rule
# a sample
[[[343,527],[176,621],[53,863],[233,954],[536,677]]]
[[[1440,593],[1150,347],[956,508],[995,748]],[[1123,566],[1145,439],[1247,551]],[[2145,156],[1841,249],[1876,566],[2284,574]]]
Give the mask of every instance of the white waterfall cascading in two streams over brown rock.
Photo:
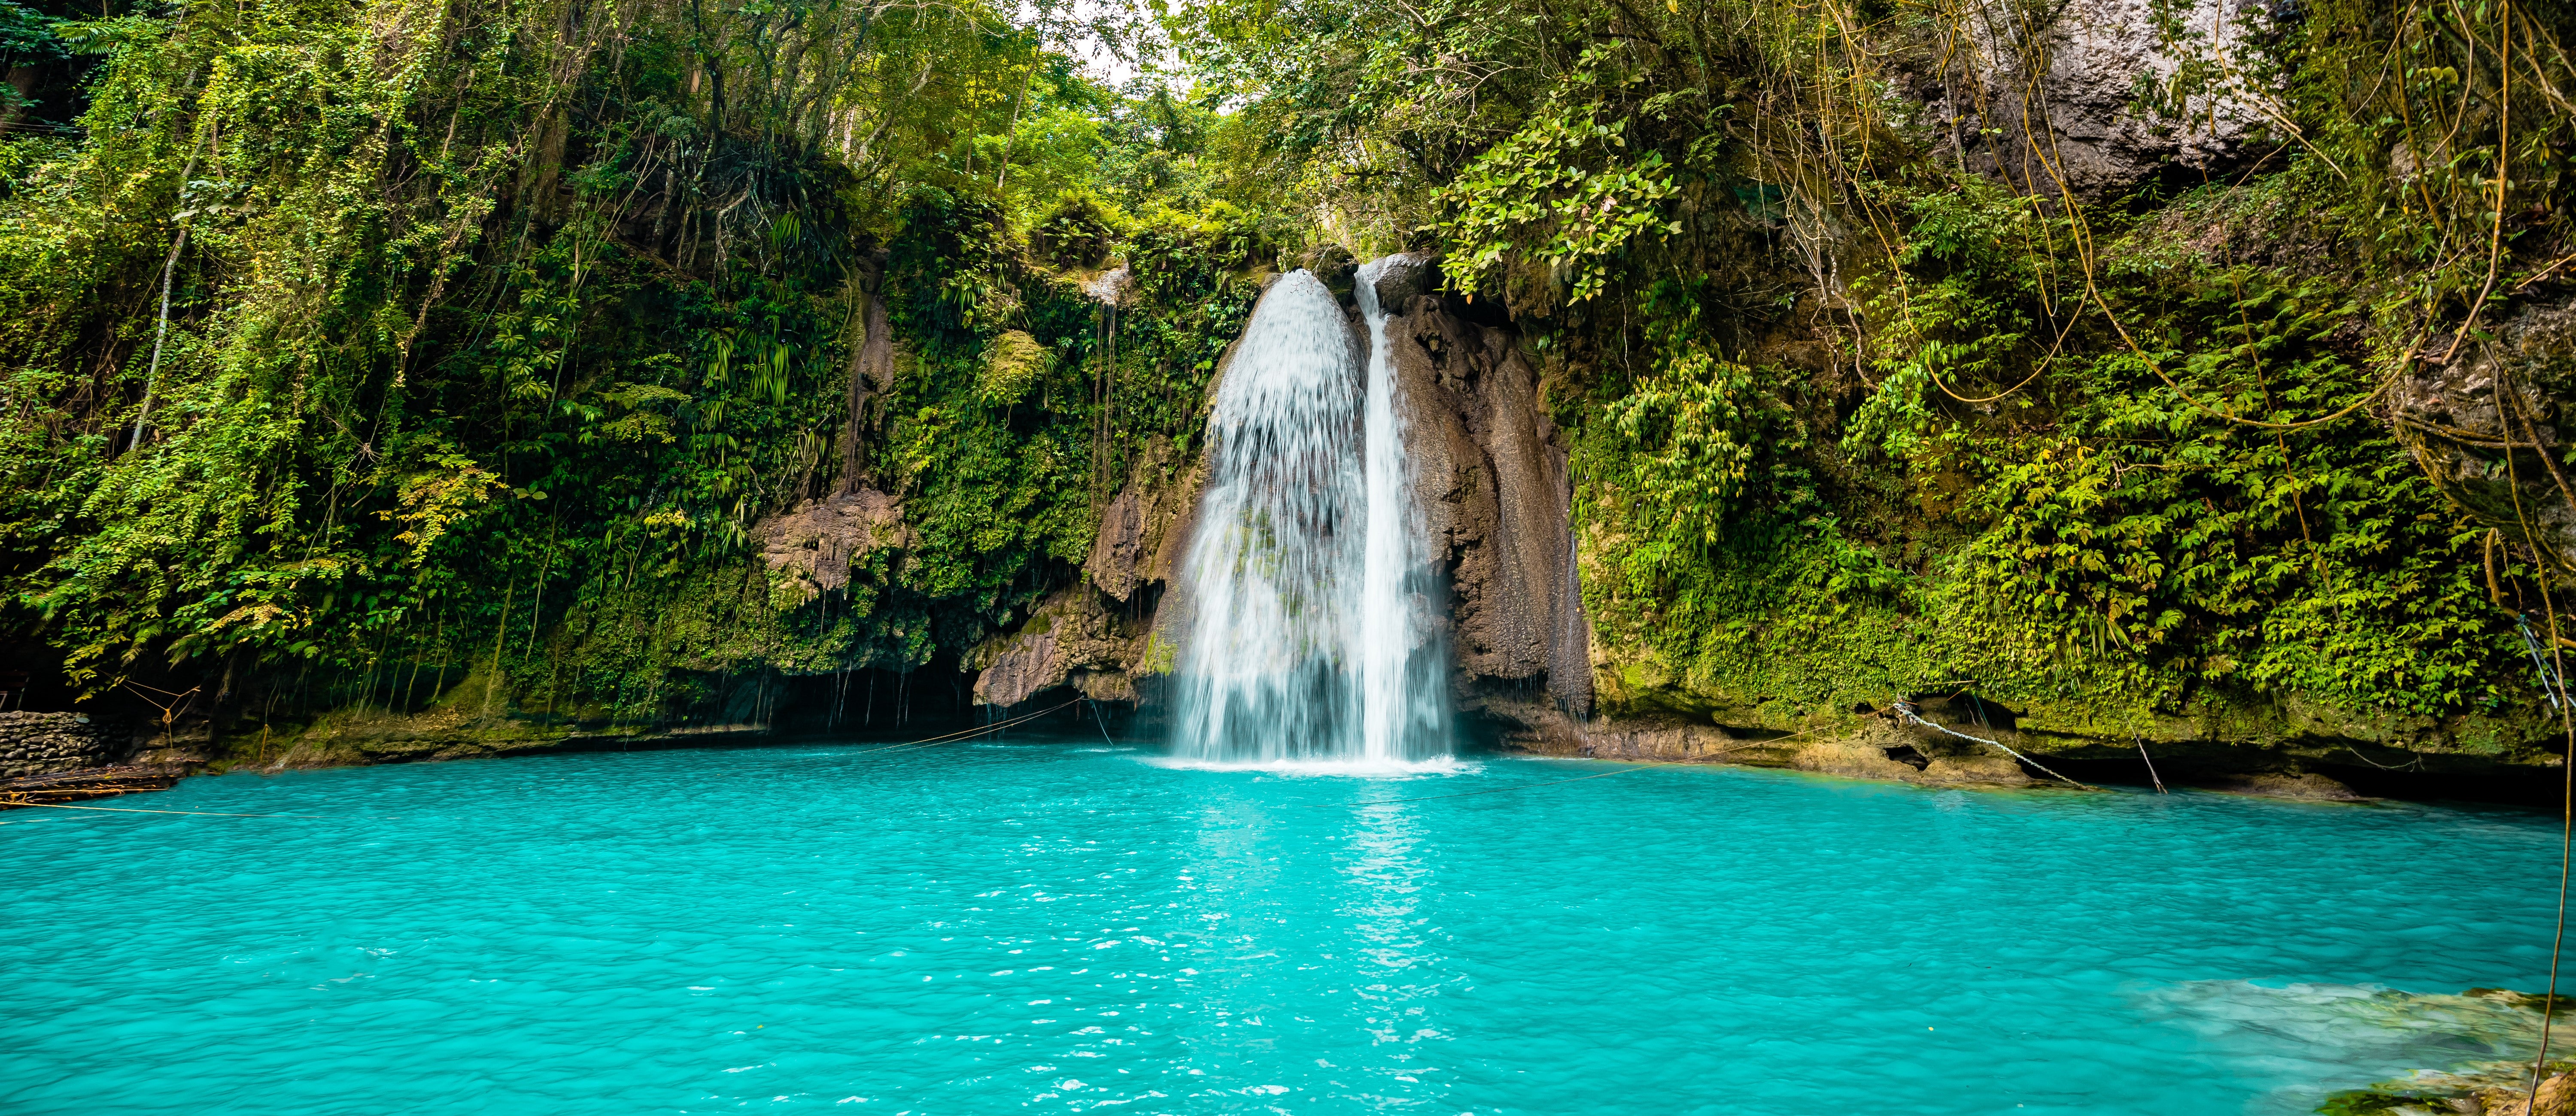
[[[1360,273],[1368,366],[1306,271],[1262,294],[1208,415],[1185,559],[1175,753],[1401,765],[1448,750],[1386,314]]]

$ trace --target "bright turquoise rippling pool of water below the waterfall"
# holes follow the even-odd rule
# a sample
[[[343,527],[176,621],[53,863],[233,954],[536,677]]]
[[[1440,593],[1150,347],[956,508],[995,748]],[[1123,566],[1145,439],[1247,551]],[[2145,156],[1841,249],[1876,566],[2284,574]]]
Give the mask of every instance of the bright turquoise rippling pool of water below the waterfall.
[[[0,1111],[2275,1113],[2527,1039],[2375,990],[2545,974],[2550,817],[1533,786],[1602,771],[1095,737],[10,812]]]

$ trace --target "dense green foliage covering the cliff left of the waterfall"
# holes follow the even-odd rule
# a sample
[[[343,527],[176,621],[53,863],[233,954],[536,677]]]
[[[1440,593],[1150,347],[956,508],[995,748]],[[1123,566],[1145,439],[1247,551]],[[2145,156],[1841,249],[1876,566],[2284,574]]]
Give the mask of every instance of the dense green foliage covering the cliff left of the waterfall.
[[[8,629],[88,691],[417,706],[500,668],[670,717],[1012,621],[1133,436],[1193,436],[1255,247],[1195,170],[1213,116],[1064,54],[1128,28],[1028,15],[13,5],[10,59],[95,62],[72,134],[0,142]],[[1113,361],[1054,268],[1131,237]],[[904,376],[853,428],[876,296]],[[773,593],[760,521],[845,482],[917,546]]]

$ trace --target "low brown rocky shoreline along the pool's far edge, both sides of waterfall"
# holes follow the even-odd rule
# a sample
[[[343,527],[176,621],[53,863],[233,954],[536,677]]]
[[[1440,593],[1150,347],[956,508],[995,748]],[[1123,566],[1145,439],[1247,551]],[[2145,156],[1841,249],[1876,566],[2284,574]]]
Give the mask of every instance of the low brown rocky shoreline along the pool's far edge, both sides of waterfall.
[[[1038,693],[1020,709],[1043,709],[1072,693]],[[1121,717],[1126,706],[1126,717]],[[1157,732],[1151,709],[1139,717],[1131,704],[1108,704],[1121,737]],[[1082,714],[1082,709],[1074,709]],[[2141,742],[2053,740],[2040,732],[2012,732],[1963,722],[1968,732],[1994,732],[2012,750],[2045,771],[2007,755],[2002,747],[1960,740],[1909,724],[1888,711],[1814,717],[1803,727],[1731,727],[1687,717],[1595,717],[1574,719],[1546,696],[1486,696],[1468,714],[1476,747],[1517,755],[1643,760],[1643,763],[1723,763],[1747,768],[1803,771],[1837,778],[1870,778],[1935,789],[2063,789],[2048,771],[2076,784],[2154,786],[2246,794],[2293,802],[2491,802],[2553,807],[2563,794],[2563,768],[2555,763],[2506,763],[2460,753],[2403,753],[2372,747],[2365,755],[2344,740],[2293,742],[2210,742],[2156,740],[2141,758]],[[1924,709],[1940,724],[1955,711]],[[1996,709],[2002,717],[2002,709]],[[1072,717],[1072,714],[1066,714]],[[920,722],[920,735],[945,732],[945,722]],[[963,724],[963,722],[961,722]],[[1043,722],[1041,722],[1043,724]],[[538,722],[507,711],[482,714],[469,704],[446,704],[422,714],[335,714],[314,724],[270,732],[214,737],[204,727],[160,737],[121,727],[85,724],[77,714],[0,714],[0,729],[18,729],[28,760],[13,760],[0,773],[0,796],[67,786],[82,778],[98,786],[131,784],[134,773],[167,773],[157,786],[196,771],[296,771],[374,763],[435,763],[502,755],[659,750],[659,747],[757,747],[788,740],[817,740],[819,732],[765,724],[672,724],[616,727]],[[1090,732],[1084,714],[1079,729]],[[840,732],[835,737],[848,737]],[[15,740],[15,737],[13,737]],[[2154,773],[2148,768],[2154,763]]]

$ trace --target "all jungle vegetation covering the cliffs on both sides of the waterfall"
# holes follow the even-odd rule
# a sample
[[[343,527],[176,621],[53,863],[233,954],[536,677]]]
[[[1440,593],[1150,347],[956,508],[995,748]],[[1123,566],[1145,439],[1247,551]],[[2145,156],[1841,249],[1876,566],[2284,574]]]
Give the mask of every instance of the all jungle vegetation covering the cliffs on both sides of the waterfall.
[[[2530,714],[2563,570],[2385,397],[2568,299],[2576,18],[2143,8],[2136,113],[2251,124],[2089,191],[2025,0],[0,0],[0,626],[265,711],[956,662],[1345,245],[1520,330],[1669,686]],[[912,541],[786,593],[855,482]]]

